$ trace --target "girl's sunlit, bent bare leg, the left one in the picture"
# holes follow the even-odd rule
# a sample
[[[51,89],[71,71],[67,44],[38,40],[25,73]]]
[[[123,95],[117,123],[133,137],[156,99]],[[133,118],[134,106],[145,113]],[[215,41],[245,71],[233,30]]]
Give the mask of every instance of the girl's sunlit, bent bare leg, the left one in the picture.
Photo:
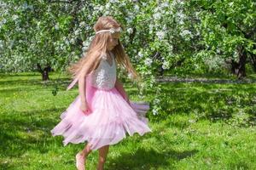
[[[84,170],[84,161],[86,160],[86,157],[90,154],[91,150],[90,150],[90,144],[86,144],[84,147],[84,150],[80,151],[77,155],[76,155],[76,167],[79,170]]]

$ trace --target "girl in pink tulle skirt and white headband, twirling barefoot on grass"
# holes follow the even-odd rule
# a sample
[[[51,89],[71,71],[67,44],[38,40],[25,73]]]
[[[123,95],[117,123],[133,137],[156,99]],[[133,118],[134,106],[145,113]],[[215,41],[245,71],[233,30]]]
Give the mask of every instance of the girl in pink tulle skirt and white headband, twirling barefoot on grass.
[[[61,114],[61,122],[51,130],[53,136],[64,136],[64,145],[88,142],[76,155],[79,170],[84,169],[84,161],[91,150],[99,150],[97,169],[100,170],[109,144],[117,144],[125,138],[125,133],[151,132],[144,117],[149,105],[130,102],[116,74],[118,63],[134,78],[139,78],[119,42],[120,24],[113,17],[100,17],[94,31],[96,36],[86,56],[69,68],[74,80],[67,90],[79,81],[79,95]]]

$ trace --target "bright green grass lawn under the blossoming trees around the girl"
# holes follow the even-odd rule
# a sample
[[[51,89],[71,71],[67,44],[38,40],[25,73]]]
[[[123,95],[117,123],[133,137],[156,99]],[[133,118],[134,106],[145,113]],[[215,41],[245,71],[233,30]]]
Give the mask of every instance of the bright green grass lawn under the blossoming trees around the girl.
[[[75,169],[74,156],[84,144],[63,147],[63,138],[49,131],[78,88],[65,91],[68,77],[61,75],[54,96],[54,83],[37,73],[0,77],[0,169]],[[138,99],[136,88],[125,88]],[[163,88],[166,112],[149,120],[153,132],[111,146],[105,169],[256,169],[255,84],[170,82]],[[153,97],[154,91],[146,95]],[[239,111],[252,118],[247,126]],[[87,169],[96,169],[97,156],[90,154]]]

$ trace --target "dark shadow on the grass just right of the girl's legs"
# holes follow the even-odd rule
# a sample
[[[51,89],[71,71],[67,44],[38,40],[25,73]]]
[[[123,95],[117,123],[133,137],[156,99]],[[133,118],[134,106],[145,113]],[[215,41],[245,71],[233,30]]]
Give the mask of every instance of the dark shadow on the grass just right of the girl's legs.
[[[108,159],[109,170],[149,169],[158,167],[172,168],[172,161],[179,161],[194,156],[198,150],[145,150],[140,148],[135,153],[121,153],[121,156]]]

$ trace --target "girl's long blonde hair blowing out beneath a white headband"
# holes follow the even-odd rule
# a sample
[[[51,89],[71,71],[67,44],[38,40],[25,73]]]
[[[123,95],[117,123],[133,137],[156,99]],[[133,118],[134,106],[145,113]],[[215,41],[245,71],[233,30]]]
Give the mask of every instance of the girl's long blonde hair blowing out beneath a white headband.
[[[102,16],[94,25],[94,31],[108,30],[111,28],[118,28],[121,26],[116,20],[111,16]],[[124,28],[123,28],[124,29]],[[79,61],[67,68],[67,71],[70,72],[73,76],[73,79],[79,78],[81,72],[84,72],[85,76],[90,74],[91,71],[94,71],[101,60],[101,55],[107,53],[107,44],[110,39],[111,33],[104,32],[96,34],[95,37],[90,42],[90,46],[87,50],[87,53],[82,55],[82,58]],[[141,77],[137,74],[137,71],[132,67],[131,61],[123,45],[119,41],[119,44],[112,49],[115,59],[119,65],[122,65],[128,73],[132,74],[134,80],[140,80]]]

